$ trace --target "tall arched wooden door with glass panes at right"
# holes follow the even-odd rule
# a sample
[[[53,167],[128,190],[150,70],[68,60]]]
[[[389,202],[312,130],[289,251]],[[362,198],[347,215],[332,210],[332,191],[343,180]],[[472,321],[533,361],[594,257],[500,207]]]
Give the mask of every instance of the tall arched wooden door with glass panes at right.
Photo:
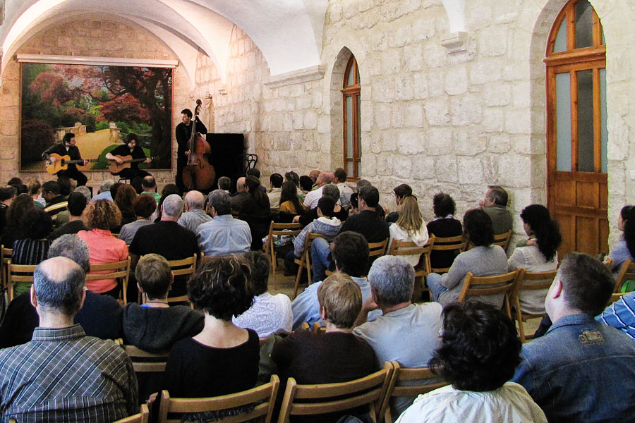
[[[588,0],[570,0],[547,45],[548,205],[561,253],[607,250],[606,47]]]

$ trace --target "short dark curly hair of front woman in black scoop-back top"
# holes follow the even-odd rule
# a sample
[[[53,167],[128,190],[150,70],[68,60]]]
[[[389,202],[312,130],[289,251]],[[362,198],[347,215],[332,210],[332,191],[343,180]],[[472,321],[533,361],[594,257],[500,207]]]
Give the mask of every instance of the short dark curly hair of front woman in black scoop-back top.
[[[188,297],[195,308],[230,321],[253,304],[249,278],[249,266],[234,255],[203,257],[188,281]]]

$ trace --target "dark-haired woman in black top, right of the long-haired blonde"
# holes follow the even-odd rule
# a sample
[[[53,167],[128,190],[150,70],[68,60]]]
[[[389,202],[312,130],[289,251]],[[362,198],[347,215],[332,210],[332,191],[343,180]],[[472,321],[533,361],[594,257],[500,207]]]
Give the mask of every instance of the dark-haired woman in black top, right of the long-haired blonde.
[[[435,219],[428,222],[428,234],[437,238],[450,238],[463,235],[461,221],[454,219],[456,204],[452,197],[444,192],[437,192],[433,198],[433,212]],[[435,245],[437,240],[435,240]],[[459,254],[459,250],[433,250],[430,252],[430,266],[435,269],[445,269],[452,266],[454,257]]]

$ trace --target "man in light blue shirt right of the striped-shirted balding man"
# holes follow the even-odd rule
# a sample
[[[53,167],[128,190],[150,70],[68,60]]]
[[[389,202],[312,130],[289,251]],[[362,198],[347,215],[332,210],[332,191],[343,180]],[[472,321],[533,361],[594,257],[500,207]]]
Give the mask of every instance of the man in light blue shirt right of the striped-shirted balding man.
[[[210,192],[207,196],[207,212],[213,219],[196,229],[198,244],[206,256],[249,251],[252,240],[249,225],[231,216],[231,200],[227,192]]]

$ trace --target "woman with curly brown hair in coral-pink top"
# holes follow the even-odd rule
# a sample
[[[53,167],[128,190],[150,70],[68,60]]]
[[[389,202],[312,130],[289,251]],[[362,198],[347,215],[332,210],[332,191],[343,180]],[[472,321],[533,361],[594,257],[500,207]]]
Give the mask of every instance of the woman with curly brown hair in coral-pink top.
[[[114,202],[97,200],[88,204],[85,210],[84,224],[90,231],[79,231],[77,235],[88,244],[90,264],[120,262],[128,258],[126,242],[115,238],[110,233],[110,228],[119,225],[119,223],[121,223],[121,212]],[[101,273],[106,272],[102,271]],[[120,287],[117,286],[116,279],[87,281],[86,288],[94,293],[119,298]]]

